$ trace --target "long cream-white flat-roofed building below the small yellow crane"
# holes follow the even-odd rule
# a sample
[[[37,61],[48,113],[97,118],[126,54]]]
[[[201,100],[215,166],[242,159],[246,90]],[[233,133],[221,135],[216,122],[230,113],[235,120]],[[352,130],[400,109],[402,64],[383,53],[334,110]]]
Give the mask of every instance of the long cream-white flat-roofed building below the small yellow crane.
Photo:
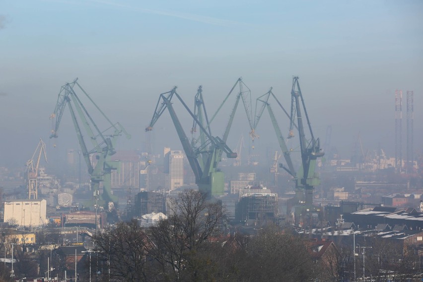
[[[4,202],[4,222],[14,222],[19,226],[47,224],[47,201],[32,199]]]

